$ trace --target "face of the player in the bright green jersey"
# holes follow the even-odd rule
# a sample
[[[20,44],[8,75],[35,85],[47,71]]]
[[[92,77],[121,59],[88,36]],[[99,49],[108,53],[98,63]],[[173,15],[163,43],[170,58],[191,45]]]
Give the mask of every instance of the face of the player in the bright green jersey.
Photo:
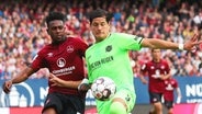
[[[110,24],[106,22],[105,18],[96,18],[92,20],[91,31],[96,37],[96,41],[101,42],[109,35]]]

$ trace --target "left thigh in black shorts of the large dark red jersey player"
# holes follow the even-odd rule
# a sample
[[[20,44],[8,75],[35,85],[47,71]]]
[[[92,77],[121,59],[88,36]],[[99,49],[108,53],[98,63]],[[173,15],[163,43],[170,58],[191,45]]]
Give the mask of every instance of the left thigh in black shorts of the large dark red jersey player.
[[[45,113],[46,111],[50,112],[52,110],[55,110],[57,114],[60,114],[63,111],[63,103],[58,93],[47,94],[42,113]]]

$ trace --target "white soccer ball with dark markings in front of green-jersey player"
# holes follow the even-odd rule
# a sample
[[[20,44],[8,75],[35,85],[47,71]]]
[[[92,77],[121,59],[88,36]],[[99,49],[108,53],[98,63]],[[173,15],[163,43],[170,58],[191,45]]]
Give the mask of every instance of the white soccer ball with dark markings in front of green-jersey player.
[[[105,101],[115,94],[116,86],[112,79],[108,77],[99,77],[92,83],[91,91],[97,100]]]

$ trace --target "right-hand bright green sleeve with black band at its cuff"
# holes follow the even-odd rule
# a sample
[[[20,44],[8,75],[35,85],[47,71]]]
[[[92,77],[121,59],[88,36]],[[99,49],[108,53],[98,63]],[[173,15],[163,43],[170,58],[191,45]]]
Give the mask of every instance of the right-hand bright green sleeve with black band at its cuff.
[[[124,34],[124,33],[117,33],[117,45],[127,50],[139,50],[142,48],[141,44],[143,41],[143,37],[131,35],[131,34]]]

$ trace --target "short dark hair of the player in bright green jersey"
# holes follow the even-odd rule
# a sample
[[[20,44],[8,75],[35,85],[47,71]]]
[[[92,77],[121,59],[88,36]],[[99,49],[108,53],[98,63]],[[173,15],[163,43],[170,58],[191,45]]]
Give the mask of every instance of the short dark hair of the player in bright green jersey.
[[[96,19],[96,18],[104,18],[106,19],[106,22],[109,23],[110,20],[113,18],[113,14],[112,13],[109,13],[108,11],[105,10],[102,10],[102,9],[97,9],[94,11],[92,11],[90,14],[89,14],[89,20],[90,20],[90,23],[92,23],[92,20]]]

